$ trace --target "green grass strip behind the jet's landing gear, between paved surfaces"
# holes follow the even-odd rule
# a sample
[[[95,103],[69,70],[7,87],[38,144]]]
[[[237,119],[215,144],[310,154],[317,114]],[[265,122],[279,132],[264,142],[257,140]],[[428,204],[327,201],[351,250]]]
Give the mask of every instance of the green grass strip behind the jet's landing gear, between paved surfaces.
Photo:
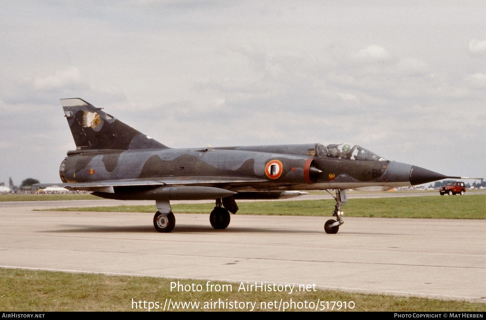
[[[241,215],[329,216],[334,200],[238,202]],[[211,203],[173,204],[175,213],[209,213]],[[486,219],[486,195],[351,199],[345,217]],[[45,209],[51,211],[156,212],[155,205]]]

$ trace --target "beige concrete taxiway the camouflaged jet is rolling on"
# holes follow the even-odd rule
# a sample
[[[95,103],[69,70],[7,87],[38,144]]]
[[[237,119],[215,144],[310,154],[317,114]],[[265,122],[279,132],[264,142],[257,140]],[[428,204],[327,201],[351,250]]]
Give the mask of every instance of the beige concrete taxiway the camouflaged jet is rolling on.
[[[328,235],[323,226],[331,217],[237,214],[226,230],[214,230],[209,215],[175,213],[174,231],[161,234],[150,213],[32,211],[95,203],[0,202],[0,267],[486,303],[486,220],[345,217]]]

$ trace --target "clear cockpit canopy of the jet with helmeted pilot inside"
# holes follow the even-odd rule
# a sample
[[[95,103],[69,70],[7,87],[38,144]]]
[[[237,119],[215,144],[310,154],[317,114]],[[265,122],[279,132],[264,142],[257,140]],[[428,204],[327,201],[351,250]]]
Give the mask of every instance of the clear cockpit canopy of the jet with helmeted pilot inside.
[[[315,146],[316,155],[318,157],[329,157],[339,159],[351,160],[367,160],[367,161],[386,161],[384,158],[361,146],[352,143],[331,143],[327,146],[318,143]]]

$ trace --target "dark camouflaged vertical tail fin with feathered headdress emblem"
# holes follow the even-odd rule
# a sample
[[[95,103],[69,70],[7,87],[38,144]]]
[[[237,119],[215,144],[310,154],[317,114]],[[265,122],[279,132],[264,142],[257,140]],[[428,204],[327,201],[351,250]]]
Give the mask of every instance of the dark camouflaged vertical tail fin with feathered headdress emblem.
[[[168,149],[79,98],[61,99],[76,150]]]

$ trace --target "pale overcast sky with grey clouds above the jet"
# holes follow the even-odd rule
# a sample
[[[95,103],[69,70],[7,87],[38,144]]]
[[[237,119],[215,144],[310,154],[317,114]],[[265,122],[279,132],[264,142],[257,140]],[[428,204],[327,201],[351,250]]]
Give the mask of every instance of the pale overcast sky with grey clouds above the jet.
[[[352,142],[486,177],[486,1],[0,1],[0,182],[82,98],[173,148]],[[469,181],[472,183],[473,181]]]

